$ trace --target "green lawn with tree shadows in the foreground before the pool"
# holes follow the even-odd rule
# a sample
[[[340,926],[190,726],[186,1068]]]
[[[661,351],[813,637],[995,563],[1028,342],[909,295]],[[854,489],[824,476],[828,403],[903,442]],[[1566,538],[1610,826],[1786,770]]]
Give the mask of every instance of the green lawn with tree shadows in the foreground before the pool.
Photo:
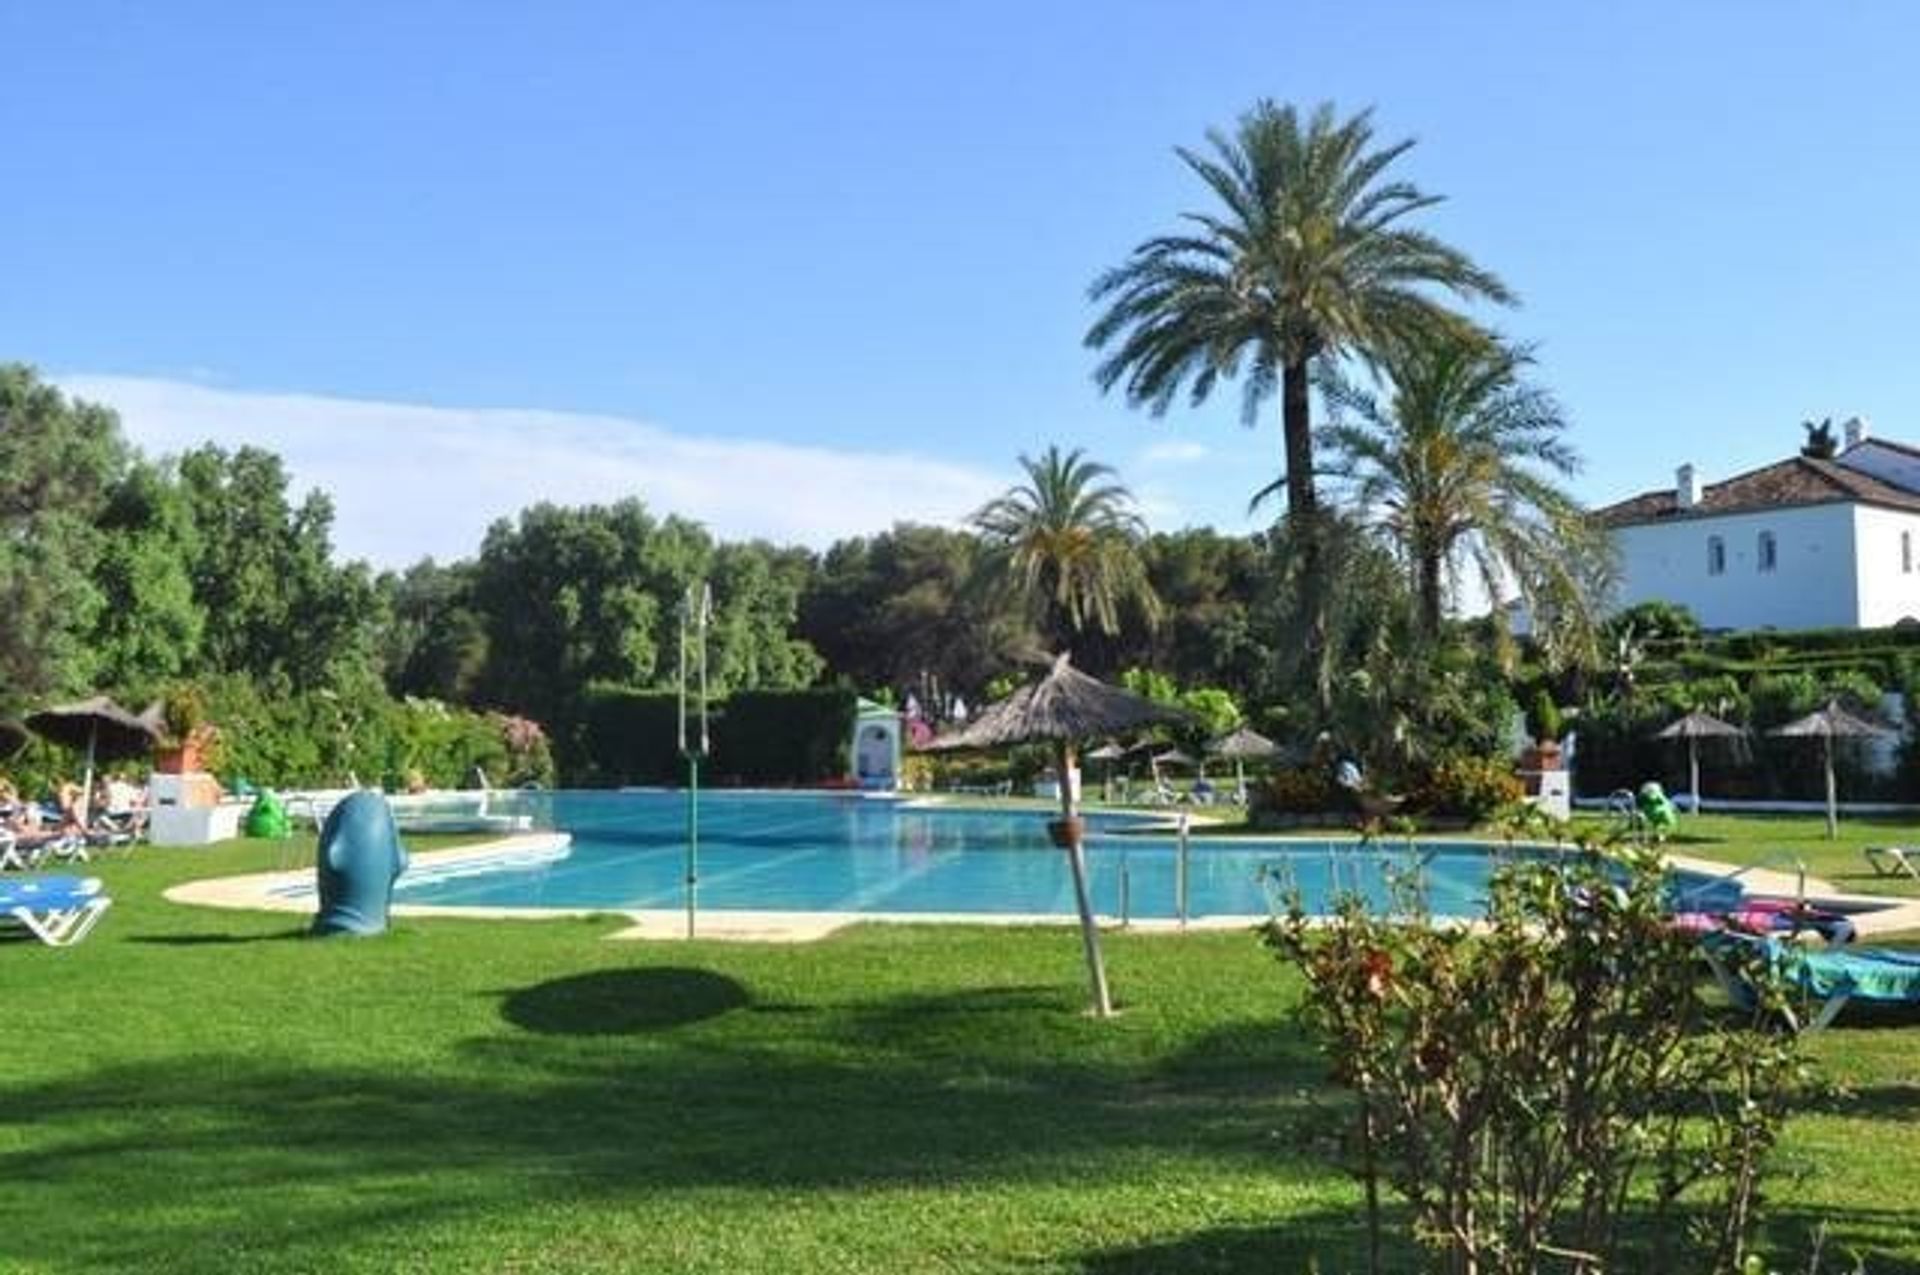
[[[0,949],[0,1269],[1356,1260],[1331,1093],[1250,935],[1112,935],[1125,1014],[1098,1023],[1069,929],[315,943],[159,899],[282,854],[140,851],[98,868],[117,902],[84,945]],[[1776,1242],[1826,1221],[1870,1271],[1920,1271],[1920,1022],[1843,1020],[1814,1052],[1845,1089],[1791,1125]]]

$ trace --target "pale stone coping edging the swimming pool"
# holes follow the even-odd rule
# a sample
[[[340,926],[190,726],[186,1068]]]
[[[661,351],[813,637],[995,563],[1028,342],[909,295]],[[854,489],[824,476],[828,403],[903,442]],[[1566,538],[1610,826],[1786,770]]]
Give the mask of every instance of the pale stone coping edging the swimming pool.
[[[1290,841],[1325,841],[1325,837],[1233,837],[1233,845],[1284,845]],[[1442,843],[1484,845],[1469,837],[1436,837]],[[518,833],[476,845],[461,845],[445,851],[422,851],[411,856],[411,864],[432,868],[457,864],[463,860],[493,858],[499,854],[551,853],[572,843],[568,833]],[[1801,878],[1793,872],[1770,868],[1745,868],[1724,864],[1693,854],[1665,854],[1667,864],[1684,872],[1707,876],[1726,876],[1740,872],[1741,879],[1766,895],[1795,897]],[[169,902],[202,908],[228,908],[244,912],[282,912],[313,914],[313,893],[301,891],[311,885],[313,868],[282,872],[250,872],[227,878],[202,878],[167,887],[163,897]],[[1920,929],[1920,899],[1899,895],[1851,895],[1836,889],[1830,881],[1807,876],[1807,899],[1818,904],[1834,904],[1849,912],[1860,937],[1891,933],[1899,929]],[[687,939],[685,908],[503,908],[467,904],[396,902],[394,916],[401,918],[453,918],[453,920],[586,920],[586,918],[624,918],[626,927],[607,935],[626,941],[684,941]],[[1127,933],[1183,933],[1183,931],[1221,931],[1248,929],[1261,926],[1269,918],[1260,916],[1202,916],[1181,922],[1177,918],[1129,918],[1100,916],[1102,929],[1125,929]],[[701,908],[695,916],[693,937],[733,943],[812,943],[826,939],[849,926],[1077,926],[1077,916],[1056,912],[780,912],[780,910],[730,910]]]

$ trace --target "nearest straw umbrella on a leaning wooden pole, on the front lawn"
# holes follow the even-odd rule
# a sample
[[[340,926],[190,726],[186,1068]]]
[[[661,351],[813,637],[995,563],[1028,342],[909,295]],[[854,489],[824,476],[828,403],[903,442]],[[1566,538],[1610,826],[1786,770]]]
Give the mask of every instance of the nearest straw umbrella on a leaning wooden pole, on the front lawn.
[[[1087,893],[1087,854],[1081,849],[1085,826],[1073,795],[1073,745],[1181,718],[1179,709],[1156,705],[1142,695],[1089,678],[1073,668],[1062,651],[1044,678],[987,705],[966,730],[929,745],[943,751],[1004,749],[1039,741],[1054,745],[1054,764],[1060,768],[1060,820],[1048,826],[1048,833],[1054,845],[1068,853],[1068,866],[1073,870],[1073,902],[1079,908],[1081,945],[1087,950],[1092,1012],[1100,1018],[1112,1016],[1114,1000],[1106,989],[1100,927],[1092,920],[1092,897]]]

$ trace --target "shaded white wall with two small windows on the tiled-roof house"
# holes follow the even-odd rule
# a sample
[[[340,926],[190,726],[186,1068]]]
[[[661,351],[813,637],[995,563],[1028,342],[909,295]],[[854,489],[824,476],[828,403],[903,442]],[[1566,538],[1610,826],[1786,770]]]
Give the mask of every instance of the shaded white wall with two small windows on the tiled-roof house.
[[[1653,599],[1682,603],[1705,628],[1857,626],[1862,622],[1853,565],[1857,509],[1882,513],[1836,503],[1619,528],[1615,601],[1620,607]],[[1761,532],[1772,532],[1778,549],[1770,572],[1759,570]],[[1726,570],[1718,576],[1707,572],[1709,536],[1726,541]],[[1899,536],[1893,553],[1899,553]]]

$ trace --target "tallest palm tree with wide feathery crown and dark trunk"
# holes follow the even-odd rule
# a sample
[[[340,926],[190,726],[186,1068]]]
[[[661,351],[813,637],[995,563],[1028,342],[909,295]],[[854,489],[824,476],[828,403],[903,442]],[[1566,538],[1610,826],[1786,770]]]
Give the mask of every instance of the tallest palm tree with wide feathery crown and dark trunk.
[[[1336,119],[1332,104],[1302,125],[1292,106],[1260,102],[1212,154],[1175,154],[1219,202],[1187,213],[1190,230],[1142,242],[1094,280],[1106,313],[1087,346],[1108,351],[1102,390],[1164,413],[1185,388],[1198,405],[1240,376],[1240,415],[1254,424],[1275,388],[1286,444],[1286,511],[1311,534],[1313,428],[1309,369],[1348,353],[1377,357],[1398,340],[1463,323],[1432,290],[1463,301],[1511,294],[1465,253],[1402,225],[1438,196],[1386,169],[1413,142],[1373,146],[1373,113]]]

